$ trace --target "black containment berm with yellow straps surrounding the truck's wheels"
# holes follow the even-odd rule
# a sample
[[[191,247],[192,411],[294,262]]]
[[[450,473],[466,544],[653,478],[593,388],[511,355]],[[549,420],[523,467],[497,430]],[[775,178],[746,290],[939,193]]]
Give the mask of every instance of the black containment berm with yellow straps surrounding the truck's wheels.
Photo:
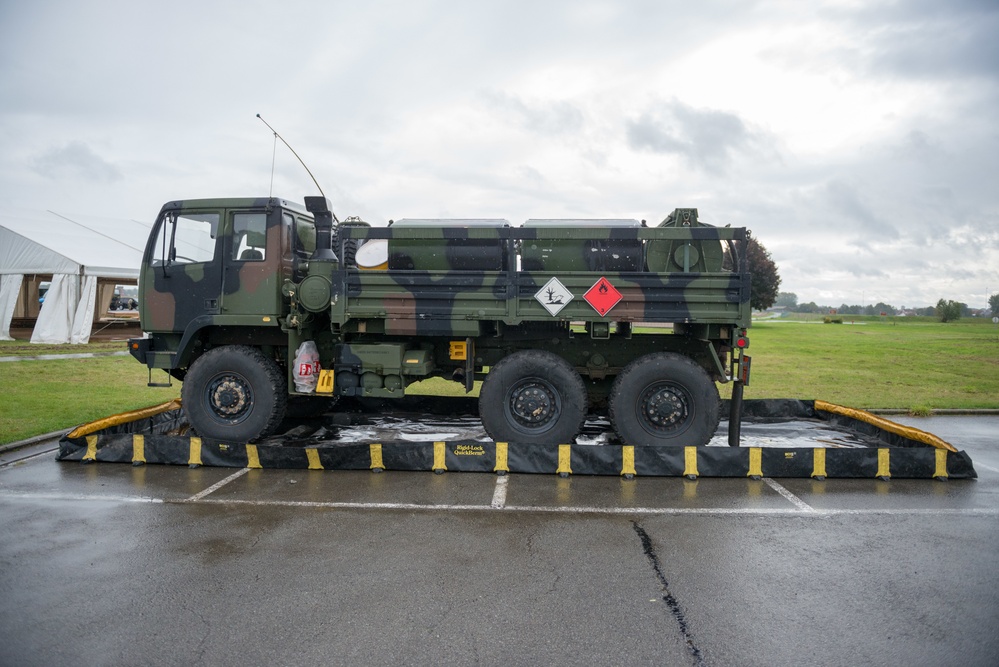
[[[950,443],[862,410],[823,401],[750,400],[745,402],[745,415],[747,424],[759,425],[763,432],[768,424],[796,421],[806,430],[814,427],[842,433],[842,442],[807,434],[798,440],[809,446],[800,447],[528,445],[478,439],[340,442],[303,438],[299,424],[291,425],[284,436],[233,443],[185,434],[188,425],[183,408],[179,401],[173,401],[76,428],[61,440],[58,459],[133,465],[624,477],[977,477],[971,458]],[[764,443],[773,440],[759,439]]]

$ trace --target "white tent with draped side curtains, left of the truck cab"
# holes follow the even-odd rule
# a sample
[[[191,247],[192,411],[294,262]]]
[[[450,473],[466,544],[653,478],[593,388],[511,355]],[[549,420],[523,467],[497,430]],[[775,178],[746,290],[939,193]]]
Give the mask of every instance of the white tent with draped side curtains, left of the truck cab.
[[[86,343],[95,319],[99,279],[139,277],[149,223],[62,215],[53,211],[0,212],[0,340],[26,275],[51,275],[32,343]]]

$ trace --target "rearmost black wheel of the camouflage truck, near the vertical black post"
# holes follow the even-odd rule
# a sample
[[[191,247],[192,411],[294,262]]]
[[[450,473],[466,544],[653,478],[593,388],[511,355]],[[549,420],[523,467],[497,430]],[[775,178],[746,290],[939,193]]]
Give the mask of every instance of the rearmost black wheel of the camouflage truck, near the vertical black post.
[[[609,404],[626,445],[706,445],[721,418],[718,387],[705,370],[668,352],[628,364],[614,380]]]

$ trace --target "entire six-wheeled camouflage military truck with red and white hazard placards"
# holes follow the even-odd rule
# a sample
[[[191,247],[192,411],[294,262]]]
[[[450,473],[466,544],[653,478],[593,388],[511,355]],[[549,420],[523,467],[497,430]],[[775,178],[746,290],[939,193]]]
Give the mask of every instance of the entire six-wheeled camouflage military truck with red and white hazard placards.
[[[745,244],[745,229],[692,208],[657,226],[373,226],[340,221],[322,196],[171,201],[145,249],[144,336],[129,348],[151,386],[157,369],[183,381],[193,429],[220,441],[436,377],[465,392],[481,380],[497,441],[571,443],[606,410],[624,444],[703,445],[716,383],[735,383],[737,413],[749,379]]]

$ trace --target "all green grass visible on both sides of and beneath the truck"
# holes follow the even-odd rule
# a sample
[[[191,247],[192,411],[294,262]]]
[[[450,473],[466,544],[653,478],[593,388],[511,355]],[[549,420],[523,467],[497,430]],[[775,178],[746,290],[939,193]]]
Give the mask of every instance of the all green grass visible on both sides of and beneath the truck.
[[[750,330],[752,378],[746,398],[820,398],[859,408],[999,408],[999,328],[987,319],[845,316],[844,324],[768,320]],[[853,323],[851,323],[851,321]],[[122,351],[124,342],[30,345],[0,342],[0,357]],[[166,378],[158,373],[156,381]],[[0,362],[0,444],[162,403],[180,384],[146,386],[129,356]],[[721,387],[722,395],[727,388]],[[421,393],[461,394],[428,381]]]

